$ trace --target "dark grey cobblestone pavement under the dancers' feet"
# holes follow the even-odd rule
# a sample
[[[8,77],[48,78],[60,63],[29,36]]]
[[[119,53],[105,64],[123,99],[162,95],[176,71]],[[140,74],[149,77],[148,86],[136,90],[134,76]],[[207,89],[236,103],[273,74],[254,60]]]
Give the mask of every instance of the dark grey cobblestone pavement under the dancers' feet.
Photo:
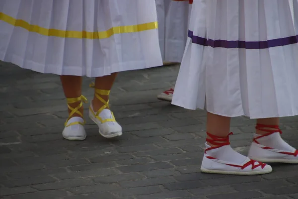
[[[156,100],[178,66],[121,73],[111,107],[124,128],[107,140],[87,117],[87,139],[67,141],[59,77],[0,63],[0,198],[3,199],[298,199],[298,166],[263,176],[199,172],[206,112]],[[91,79],[83,94],[90,100]],[[85,105],[87,110],[88,105]],[[283,118],[298,148],[298,117]],[[247,153],[254,121],[234,118],[231,144]]]

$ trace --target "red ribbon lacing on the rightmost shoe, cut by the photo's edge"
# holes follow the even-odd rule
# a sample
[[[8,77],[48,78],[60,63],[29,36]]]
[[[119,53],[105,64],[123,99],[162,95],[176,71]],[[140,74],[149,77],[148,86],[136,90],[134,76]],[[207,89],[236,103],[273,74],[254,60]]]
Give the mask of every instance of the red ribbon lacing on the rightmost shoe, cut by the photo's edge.
[[[260,135],[258,137],[253,138],[253,141],[257,144],[260,144],[257,141],[257,139],[259,139],[259,138],[266,137],[266,136],[271,135],[276,132],[279,132],[280,134],[283,133],[278,125],[257,124],[256,129],[260,130],[260,131],[268,132],[264,135]],[[265,146],[265,147],[262,147],[262,149],[273,149],[273,148]],[[279,153],[286,154],[286,155],[293,155],[296,157],[298,155],[298,150],[296,150],[294,153],[292,153],[292,152],[279,152]]]

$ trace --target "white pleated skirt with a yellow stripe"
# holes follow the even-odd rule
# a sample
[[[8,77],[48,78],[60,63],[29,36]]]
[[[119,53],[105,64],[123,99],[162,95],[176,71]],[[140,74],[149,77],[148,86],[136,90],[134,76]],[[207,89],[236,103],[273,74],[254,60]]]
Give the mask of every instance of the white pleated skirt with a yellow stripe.
[[[0,60],[100,77],[161,66],[154,0],[0,0]]]

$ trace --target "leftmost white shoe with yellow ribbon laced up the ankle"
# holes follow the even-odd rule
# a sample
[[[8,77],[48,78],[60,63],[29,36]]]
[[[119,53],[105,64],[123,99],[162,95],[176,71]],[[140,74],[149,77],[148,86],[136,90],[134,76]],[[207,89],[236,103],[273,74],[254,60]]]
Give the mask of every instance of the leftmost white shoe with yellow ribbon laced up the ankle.
[[[80,101],[76,107],[72,107],[70,104]],[[65,122],[65,128],[62,132],[62,135],[65,139],[68,140],[84,140],[86,139],[86,131],[84,128],[85,121],[83,119],[83,114],[79,109],[83,106],[83,102],[86,103],[87,99],[84,96],[78,98],[68,98],[68,108],[71,110],[69,118]],[[81,117],[75,116],[74,113],[78,114]]]

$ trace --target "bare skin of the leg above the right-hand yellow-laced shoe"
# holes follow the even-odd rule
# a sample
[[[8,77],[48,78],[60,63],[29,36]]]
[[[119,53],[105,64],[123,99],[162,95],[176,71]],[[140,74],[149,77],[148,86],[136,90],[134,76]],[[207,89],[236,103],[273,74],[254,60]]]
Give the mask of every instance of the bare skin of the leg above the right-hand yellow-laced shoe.
[[[108,76],[95,78],[95,89],[110,91],[112,89],[114,81],[117,77],[117,74],[118,73],[113,73]],[[100,97],[105,101],[109,100],[109,95],[100,95]],[[94,111],[97,111],[103,105],[104,105],[104,103],[102,101],[100,101],[99,99],[97,99],[94,94],[94,98],[92,100],[92,106],[93,106]]]

